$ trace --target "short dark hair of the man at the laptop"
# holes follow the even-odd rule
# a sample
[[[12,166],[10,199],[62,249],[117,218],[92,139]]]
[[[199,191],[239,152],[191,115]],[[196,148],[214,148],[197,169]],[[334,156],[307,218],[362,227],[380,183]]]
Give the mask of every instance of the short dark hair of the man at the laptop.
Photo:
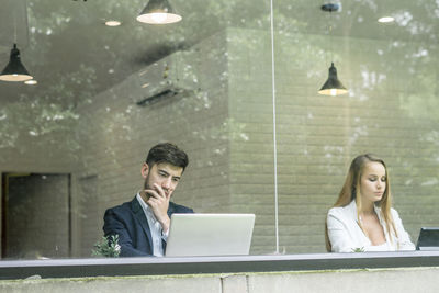
[[[154,146],[149,149],[148,156],[146,157],[146,164],[149,168],[153,168],[155,164],[168,162],[177,167],[182,167],[183,171],[189,164],[188,155],[178,146],[164,143]]]

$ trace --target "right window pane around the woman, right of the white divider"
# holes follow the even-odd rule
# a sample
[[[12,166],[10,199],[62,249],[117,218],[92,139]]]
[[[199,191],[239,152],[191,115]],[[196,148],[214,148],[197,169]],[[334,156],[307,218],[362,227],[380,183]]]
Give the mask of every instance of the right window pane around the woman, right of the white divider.
[[[351,160],[364,153],[387,164],[394,207],[414,243],[421,226],[439,224],[438,3],[340,4],[331,15],[307,1],[275,5],[280,225],[288,253],[325,251],[326,213]],[[379,23],[384,15],[395,21]],[[317,93],[331,60],[346,95]]]

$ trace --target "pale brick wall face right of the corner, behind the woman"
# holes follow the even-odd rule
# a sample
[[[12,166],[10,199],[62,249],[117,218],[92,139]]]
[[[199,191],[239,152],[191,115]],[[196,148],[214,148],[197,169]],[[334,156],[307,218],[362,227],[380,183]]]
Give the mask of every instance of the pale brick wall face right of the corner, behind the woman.
[[[246,199],[245,210],[258,213],[255,236],[269,247],[274,222],[270,48],[248,42],[269,33],[236,29],[228,34],[230,116],[248,137],[233,139],[232,198]],[[347,95],[317,94],[330,65],[327,36],[274,35],[280,252],[325,252],[326,213],[351,160],[364,153],[387,164],[394,207],[414,243],[421,226],[439,225],[438,86],[429,81],[438,76],[437,52],[416,58],[412,54],[425,44],[334,38]]]

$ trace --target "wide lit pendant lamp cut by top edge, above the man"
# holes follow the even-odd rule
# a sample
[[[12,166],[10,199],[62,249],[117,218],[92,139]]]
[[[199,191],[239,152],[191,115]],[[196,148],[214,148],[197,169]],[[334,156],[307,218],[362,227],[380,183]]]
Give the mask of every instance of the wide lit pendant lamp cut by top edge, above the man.
[[[137,21],[149,24],[168,24],[181,21],[168,0],[149,0],[148,4],[137,16]]]

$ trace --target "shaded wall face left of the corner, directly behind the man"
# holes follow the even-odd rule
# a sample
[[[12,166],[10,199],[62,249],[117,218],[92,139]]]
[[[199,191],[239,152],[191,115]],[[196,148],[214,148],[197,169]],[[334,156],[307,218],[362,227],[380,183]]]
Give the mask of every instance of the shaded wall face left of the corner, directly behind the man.
[[[224,37],[219,33],[189,50],[170,55],[80,109],[83,124],[79,137],[85,145],[78,179],[93,177],[95,181],[93,191],[82,189],[77,211],[82,218],[82,233],[78,235],[82,238],[82,257],[102,236],[104,211],[131,201],[142,189],[140,167],[157,143],[172,142],[189,156],[172,201],[195,212],[228,211],[227,82],[218,78],[227,66]],[[166,80],[177,87],[189,84],[189,91],[136,104],[147,98],[149,87]],[[145,83],[149,83],[147,89],[142,87]]]

